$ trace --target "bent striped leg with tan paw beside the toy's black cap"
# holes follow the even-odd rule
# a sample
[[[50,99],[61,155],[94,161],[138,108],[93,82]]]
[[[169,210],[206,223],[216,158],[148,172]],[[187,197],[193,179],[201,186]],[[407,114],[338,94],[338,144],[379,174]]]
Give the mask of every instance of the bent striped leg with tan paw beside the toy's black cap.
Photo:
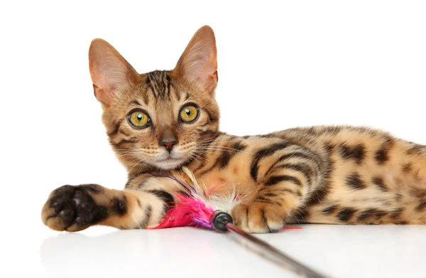
[[[256,162],[257,195],[231,211],[234,223],[246,232],[281,230],[317,184],[322,163],[314,152],[289,146],[269,154]]]

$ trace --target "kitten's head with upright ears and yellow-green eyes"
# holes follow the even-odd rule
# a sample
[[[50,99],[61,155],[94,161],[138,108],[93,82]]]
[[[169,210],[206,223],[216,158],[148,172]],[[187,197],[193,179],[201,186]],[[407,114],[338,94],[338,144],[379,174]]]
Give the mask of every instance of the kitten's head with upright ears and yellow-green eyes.
[[[89,70],[109,142],[129,172],[177,169],[217,137],[217,49],[209,26],[195,33],[173,70],[138,74],[99,38],[89,48]]]

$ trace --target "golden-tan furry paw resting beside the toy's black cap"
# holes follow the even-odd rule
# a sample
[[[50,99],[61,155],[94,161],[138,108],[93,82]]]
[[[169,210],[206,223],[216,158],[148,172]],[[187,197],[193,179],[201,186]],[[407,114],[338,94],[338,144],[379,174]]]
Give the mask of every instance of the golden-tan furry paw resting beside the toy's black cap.
[[[236,205],[231,211],[234,224],[245,232],[278,232],[283,228],[288,213],[281,205],[247,203]]]

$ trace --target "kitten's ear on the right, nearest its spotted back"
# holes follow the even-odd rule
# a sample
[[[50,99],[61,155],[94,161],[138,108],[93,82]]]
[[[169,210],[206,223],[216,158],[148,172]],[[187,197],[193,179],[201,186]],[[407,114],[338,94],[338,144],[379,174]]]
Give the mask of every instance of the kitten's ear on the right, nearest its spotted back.
[[[213,92],[217,86],[217,49],[214,32],[202,26],[192,36],[175,67],[186,80],[195,82],[204,90]]]

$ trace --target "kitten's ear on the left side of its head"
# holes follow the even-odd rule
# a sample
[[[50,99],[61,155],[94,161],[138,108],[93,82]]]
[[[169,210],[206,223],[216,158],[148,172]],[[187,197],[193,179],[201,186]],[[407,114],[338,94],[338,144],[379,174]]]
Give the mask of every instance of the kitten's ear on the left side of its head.
[[[89,48],[89,70],[94,95],[109,106],[120,85],[137,82],[140,75],[107,41],[95,38]]]

